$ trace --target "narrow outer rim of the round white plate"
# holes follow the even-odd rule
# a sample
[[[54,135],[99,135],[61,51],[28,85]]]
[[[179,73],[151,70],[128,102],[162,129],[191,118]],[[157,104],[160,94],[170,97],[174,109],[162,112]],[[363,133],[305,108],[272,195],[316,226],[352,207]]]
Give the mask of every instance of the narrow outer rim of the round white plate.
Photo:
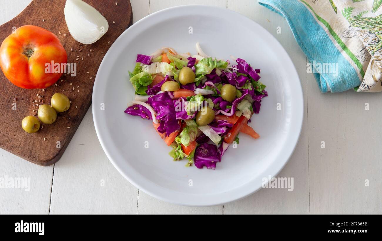
[[[286,52],[286,50],[284,49],[284,47],[280,44],[280,42],[272,35],[270,34],[269,31],[267,31],[267,29],[265,29],[264,27],[262,27],[260,24],[258,24],[256,21],[236,12],[236,11],[233,11],[233,10],[229,10],[227,8],[222,8],[222,7],[218,7],[218,6],[209,6],[209,5],[180,5],[180,6],[173,6],[173,7],[170,7],[170,8],[165,8],[165,9],[162,9],[162,10],[159,10],[159,11],[156,11],[155,13],[152,13],[152,14],[149,14],[147,16],[145,16],[144,18],[142,19],[139,19],[136,23],[134,23],[133,25],[131,25],[130,27],[128,27],[128,29],[126,29],[112,44],[112,46],[110,47],[110,49],[106,52],[99,68],[98,68],[98,71],[100,71],[102,69],[102,66],[105,65],[105,60],[107,59],[107,57],[109,55],[111,55],[111,52],[112,50],[114,49],[114,47],[116,46],[115,43],[119,42],[120,39],[123,38],[124,35],[128,34],[130,31],[133,31],[131,29],[134,29],[136,28],[137,26],[139,27],[139,23],[142,23],[144,21],[147,21],[146,19],[151,19],[151,18],[154,18],[155,16],[157,15],[161,15],[163,14],[164,12],[167,12],[167,11],[173,11],[173,10],[179,10],[181,8],[210,8],[212,11],[215,10],[215,11],[227,11],[227,12],[230,12],[230,14],[233,14],[233,15],[236,15],[238,17],[241,17],[241,18],[246,18],[248,19],[249,21],[252,22],[252,24],[256,25],[257,27],[261,28],[264,30],[264,32],[266,32],[266,34],[268,34],[267,37],[273,39],[279,46],[279,48],[283,51],[283,56],[285,56],[290,64],[291,64],[291,72],[293,72],[293,76],[296,77],[296,82],[298,82],[298,85],[297,86],[293,86],[293,89],[295,91],[294,93],[294,97],[296,97],[296,102],[298,104],[301,104],[301,111],[297,112],[297,114],[299,114],[299,118],[296,118],[295,121],[298,121],[298,126],[299,126],[299,133],[298,135],[296,136],[295,140],[293,141],[293,148],[290,151],[290,153],[288,153],[287,155],[287,158],[286,160],[284,161],[282,167],[280,167],[279,170],[277,170],[275,172],[274,175],[271,175],[272,177],[275,177],[278,175],[278,173],[280,173],[281,170],[283,170],[283,168],[285,167],[286,163],[288,163],[288,161],[290,160],[290,157],[293,155],[293,153],[295,152],[296,150],[296,147],[297,147],[297,144],[298,144],[298,141],[299,141],[299,138],[301,136],[301,131],[302,131],[302,127],[303,127],[303,120],[304,120],[304,112],[305,112],[305,108],[304,108],[304,95],[303,95],[303,89],[302,89],[302,86],[301,86],[301,81],[299,79],[299,76],[298,76],[298,73],[297,73],[297,70],[296,70],[296,67],[293,63],[293,61],[291,60],[289,54]],[[97,96],[96,96],[96,93],[97,93],[97,86],[98,86],[98,82],[100,82],[99,80],[99,76],[100,74],[98,74],[98,71],[97,71],[97,74],[96,74],[96,77],[95,77],[95,81],[94,81],[94,86],[93,86],[93,92],[92,92],[92,101],[94,103],[94,100],[97,99]],[[97,81],[98,79],[98,81]],[[296,107],[297,109],[297,107]],[[246,190],[246,193],[243,195],[242,193],[240,194],[236,194],[235,197],[233,198],[227,198],[227,200],[225,201],[211,201],[209,199],[209,201],[204,201],[204,202],[199,202],[199,203],[194,203],[194,202],[186,202],[186,201],[180,201],[179,198],[176,198],[176,200],[174,200],[175,198],[169,198],[169,197],[166,197],[166,196],[161,196],[153,191],[149,191],[147,190],[146,188],[143,188],[141,184],[138,184],[136,181],[134,181],[132,178],[130,178],[124,171],[121,170],[120,166],[117,164],[117,162],[115,162],[112,158],[112,155],[110,155],[110,153],[108,152],[108,149],[104,143],[104,141],[102,140],[102,135],[101,135],[101,131],[100,131],[100,128],[99,128],[99,124],[98,124],[98,121],[97,121],[97,111],[95,110],[95,105],[92,104],[92,117],[93,117],[93,123],[94,123],[94,128],[95,128],[95,132],[97,134],[97,138],[102,146],[102,149],[104,150],[107,158],[110,160],[110,162],[113,164],[113,166],[118,170],[118,172],[126,178],[126,180],[128,180],[131,184],[133,184],[136,188],[138,188],[139,190],[145,192],[146,194],[149,194],[150,196],[152,197],[155,197],[157,199],[160,199],[162,201],[165,201],[165,202],[170,202],[170,203],[173,203],[173,204],[178,204],[178,205],[184,205],[184,206],[190,206],[190,207],[208,207],[208,206],[215,206],[215,205],[223,205],[223,204],[226,204],[226,203],[230,203],[230,202],[235,202],[235,201],[238,201],[240,199],[243,199],[245,197],[248,197],[250,196],[251,194],[254,194],[255,192],[259,191],[259,189],[261,189],[261,186],[258,187],[258,188],[255,188],[255,189],[251,189],[248,191],[248,189]],[[139,173],[138,173],[139,174]],[[248,182],[249,183],[249,182]],[[246,184],[248,184],[246,183]],[[237,188],[236,188],[237,189]],[[235,190],[235,189],[234,189]],[[232,191],[229,191],[228,193],[232,193]],[[193,196],[195,194],[182,194],[182,195],[185,195],[185,196]],[[218,194],[214,194],[215,195],[218,195]],[[183,199],[184,200],[184,199]]]

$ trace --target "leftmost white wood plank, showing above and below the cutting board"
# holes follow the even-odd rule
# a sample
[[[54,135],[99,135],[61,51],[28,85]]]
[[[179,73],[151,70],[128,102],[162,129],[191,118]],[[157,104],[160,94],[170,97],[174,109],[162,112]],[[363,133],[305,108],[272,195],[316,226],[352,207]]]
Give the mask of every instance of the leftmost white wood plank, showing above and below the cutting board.
[[[1,1],[0,24],[17,16],[30,2]],[[0,178],[30,178],[30,191],[0,188],[0,214],[48,214],[52,173],[53,166],[40,167],[0,149]]]

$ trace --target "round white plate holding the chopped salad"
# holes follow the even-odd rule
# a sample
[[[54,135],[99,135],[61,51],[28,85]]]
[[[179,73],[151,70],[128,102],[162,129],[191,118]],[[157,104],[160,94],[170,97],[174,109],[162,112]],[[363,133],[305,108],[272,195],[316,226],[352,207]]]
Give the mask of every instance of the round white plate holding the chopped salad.
[[[260,68],[269,93],[250,124],[261,138],[240,134],[240,144],[236,149],[230,146],[215,170],[185,167],[186,160],[173,162],[171,148],[151,121],[123,112],[133,100],[128,70],[133,70],[138,53],[166,46],[195,54],[196,42],[212,57],[233,55]],[[261,188],[262,178],[273,177],[284,167],[301,131],[303,94],[288,54],[259,24],[227,9],[188,5],[141,19],[113,43],[95,78],[92,110],[99,141],[127,180],[167,202],[209,206],[252,194]]]

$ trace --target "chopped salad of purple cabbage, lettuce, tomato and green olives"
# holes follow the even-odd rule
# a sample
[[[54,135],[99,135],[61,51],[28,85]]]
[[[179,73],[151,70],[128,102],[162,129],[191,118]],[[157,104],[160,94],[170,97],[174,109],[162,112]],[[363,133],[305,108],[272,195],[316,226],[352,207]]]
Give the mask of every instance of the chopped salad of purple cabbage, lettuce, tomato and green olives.
[[[173,160],[186,166],[215,169],[239,133],[259,134],[248,122],[267,96],[260,70],[245,60],[217,60],[196,44],[196,55],[163,47],[151,55],[137,55],[129,71],[135,100],[125,113],[151,120]]]

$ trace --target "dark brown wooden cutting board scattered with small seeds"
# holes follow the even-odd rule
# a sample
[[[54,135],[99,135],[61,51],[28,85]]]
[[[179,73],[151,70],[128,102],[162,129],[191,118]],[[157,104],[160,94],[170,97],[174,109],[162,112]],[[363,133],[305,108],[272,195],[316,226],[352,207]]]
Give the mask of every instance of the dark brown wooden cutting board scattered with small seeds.
[[[11,84],[0,70],[0,147],[41,166],[52,165],[62,156],[91,105],[94,79],[102,58],[118,36],[133,22],[129,0],[84,0],[103,13],[109,29],[94,44],[80,45],[71,37],[66,26],[65,2],[66,0],[33,0],[16,18],[0,26],[0,42],[20,26],[43,27],[60,39],[68,53],[68,63],[77,63],[75,77],[63,74],[56,84],[45,91],[19,88]],[[50,99],[56,92],[69,97],[70,109],[58,114],[52,125],[42,124],[44,128],[36,133],[26,133],[21,128],[21,121],[25,116],[33,115],[33,110],[37,112],[38,108],[33,106],[34,100],[41,104],[40,100],[44,99],[45,104],[50,104]],[[37,95],[43,97],[39,98]]]

